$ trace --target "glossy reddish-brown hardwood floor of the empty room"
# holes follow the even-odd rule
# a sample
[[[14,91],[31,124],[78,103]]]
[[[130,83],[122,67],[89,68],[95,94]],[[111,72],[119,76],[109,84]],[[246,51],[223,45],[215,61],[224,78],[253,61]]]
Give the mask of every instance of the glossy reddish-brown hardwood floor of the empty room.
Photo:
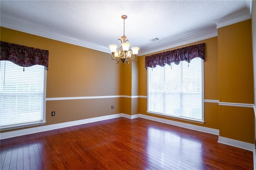
[[[252,152],[218,136],[146,119],[117,118],[1,140],[2,170],[241,169]]]

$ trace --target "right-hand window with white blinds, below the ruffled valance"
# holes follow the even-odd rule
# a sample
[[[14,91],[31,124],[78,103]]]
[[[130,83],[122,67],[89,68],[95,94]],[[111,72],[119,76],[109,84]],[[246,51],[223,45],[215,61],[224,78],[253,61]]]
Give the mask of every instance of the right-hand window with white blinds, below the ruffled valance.
[[[148,69],[148,112],[204,121],[203,60]]]

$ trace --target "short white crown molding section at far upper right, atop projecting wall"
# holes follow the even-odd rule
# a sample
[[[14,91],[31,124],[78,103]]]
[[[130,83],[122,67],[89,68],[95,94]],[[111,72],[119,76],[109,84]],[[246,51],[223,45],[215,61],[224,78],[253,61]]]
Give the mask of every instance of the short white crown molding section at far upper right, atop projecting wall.
[[[234,14],[230,14],[228,16],[224,16],[222,18],[214,20],[214,22],[216,23],[217,28],[222,28],[224,26],[236,24],[238,22],[242,22],[250,18],[251,18],[250,10],[242,10]]]

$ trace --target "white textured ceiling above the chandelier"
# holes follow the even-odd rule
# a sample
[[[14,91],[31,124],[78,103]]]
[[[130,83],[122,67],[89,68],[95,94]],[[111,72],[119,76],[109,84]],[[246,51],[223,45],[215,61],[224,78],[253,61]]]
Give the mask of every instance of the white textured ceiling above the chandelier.
[[[250,3],[251,0],[1,0],[0,24],[40,36],[69,38],[81,46],[98,46],[101,51],[110,52],[108,45],[120,45],[121,16],[127,15],[125,35],[131,47],[140,47],[140,55],[161,49],[154,47],[216,30],[214,20],[250,10]],[[150,41],[153,38],[159,40]]]

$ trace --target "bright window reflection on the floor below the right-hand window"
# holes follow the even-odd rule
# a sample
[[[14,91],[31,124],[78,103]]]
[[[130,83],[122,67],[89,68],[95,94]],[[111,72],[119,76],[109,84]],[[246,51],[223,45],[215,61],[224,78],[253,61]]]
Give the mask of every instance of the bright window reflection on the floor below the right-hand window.
[[[164,169],[202,168],[202,143],[170,130],[148,128],[147,154]]]

